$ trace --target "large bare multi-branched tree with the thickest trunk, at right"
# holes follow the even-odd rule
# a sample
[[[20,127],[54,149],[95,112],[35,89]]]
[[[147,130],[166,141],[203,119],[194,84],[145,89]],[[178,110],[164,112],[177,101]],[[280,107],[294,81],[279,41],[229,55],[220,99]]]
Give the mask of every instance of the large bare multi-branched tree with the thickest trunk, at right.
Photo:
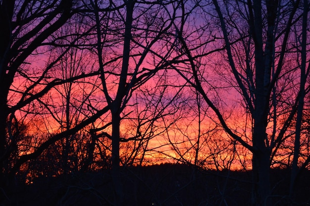
[[[203,53],[203,44],[197,46],[192,43],[195,36],[186,32],[188,28],[184,25],[193,17],[186,15],[190,11],[185,6],[185,1],[181,4],[184,18],[180,26],[176,27],[176,32],[181,51],[188,58],[183,61],[188,65],[188,70],[176,66],[176,71],[203,96],[227,134],[251,151],[252,204],[272,205],[270,164],[284,140],[291,137],[286,136],[289,133],[287,129],[292,124],[297,105],[302,107],[298,101],[304,93],[302,85],[305,84],[307,76],[305,70],[302,71],[303,81],[296,83],[294,75],[301,74],[296,65],[291,64],[296,53],[288,55],[292,49],[291,37],[296,32],[293,28],[302,19],[303,7],[300,7],[299,1],[283,3],[213,0],[210,4],[201,3],[200,8],[206,16],[207,28],[210,28],[202,32],[195,30],[196,36],[209,37],[209,52]],[[308,6],[305,8],[308,11]],[[198,24],[204,25],[202,22]],[[212,31],[212,26],[218,26],[220,32]],[[299,36],[300,33],[297,34]],[[214,48],[212,41],[217,42],[217,48]],[[225,53],[218,47],[220,44],[225,45]],[[307,45],[306,42],[304,45]],[[218,54],[212,55],[215,52]],[[208,56],[225,59],[205,64],[204,62],[212,61]],[[209,84],[212,80],[208,74],[216,73],[221,75],[217,79],[220,82]],[[296,89],[296,85],[301,85],[301,88]],[[243,108],[244,114],[247,114],[246,119],[240,119],[244,124],[241,125],[241,132],[231,124],[234,110],[227,113],[229,109],[226,105],[232,105],[231,99],[229,95],[225,98],[223,94],[229,93],[236,94],[238,107]],[[282,96],[287,97],[286,102],[290,104],[283,103]],[[300,108],[301,113],[302,111]],[[298,137],[296,140],[298,141]]]

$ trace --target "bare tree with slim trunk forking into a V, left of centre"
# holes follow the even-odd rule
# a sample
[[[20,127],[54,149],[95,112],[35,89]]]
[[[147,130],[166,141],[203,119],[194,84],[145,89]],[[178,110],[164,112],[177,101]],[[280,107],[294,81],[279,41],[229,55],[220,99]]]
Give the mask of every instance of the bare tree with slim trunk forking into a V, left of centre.
[[[111,139],[111,166],[115,204],[122,205],[124,191],[120,182],[120,144],[129,140],[142,138],[141,122],[138,124],[136,136],[122,137],[122,124],[127,117],[133,119],[130,105],[131,98],[139,87],[151,80],[157,72],[168,65],[162,58],[172,58],[170,43],[171,28],[176,19],[177,2],[140,2],[128,0],[123,3],[112,2],[118,8],[112,12],[102,11],[101,3],[97,0],[90,1],[94,9],[96,20],[96,51],[100,78],[102,80],[103,94],[110,112],[110,131],[105,135]],[[173,16],[167,18],[172,9]],[[149,65],[147,65],[147,63]],[[162,96],[162,95],[161,95]],[[148,98],[148,97],[146,97]],[[152,101],[152,100],[151,100]],[[156,100],[156,101],[160,101]],[[156,105],[152,105],[155,106]],[[129,107],[129,108],[128,108]],[[163,110],[155,110],[155,117]],[[148,138],[151,138],[149,136]],[[145,136],[144,136],[145,138]],[[140,139],[144,141],[144,139]]]

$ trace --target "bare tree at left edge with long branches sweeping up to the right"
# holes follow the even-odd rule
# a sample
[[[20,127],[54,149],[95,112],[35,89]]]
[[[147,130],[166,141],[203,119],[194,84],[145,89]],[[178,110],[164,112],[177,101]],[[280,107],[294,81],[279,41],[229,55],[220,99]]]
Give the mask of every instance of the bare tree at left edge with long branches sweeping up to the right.
[[[80,8],[80,4],[70,0],[1,1],[1,23],[8,29],[7,38],[1,38],[3,108],[0,119],[4,118],[5,122],[1,124],[4,133],[0,136],[3,185],[7,179],[4,176],[14,175],[22,164],[38,157],[56,141],[75,135],[108,111],[106,106],[90,111],[89,107],[95,108],[95,105],[89,102],[89,97],[98,89],[94,81],[99,73],[91,65],[83,71],[86,67],[82,68],[85,65],[81,62],[85,63],[87,56],[81,60],[74,55],[90,46],[85,37],[92,28],[81,27],[85,18],[77,14]],[[73,19],[72,15],[75,15]],[[77,86],[77,82],[82,92],[79,97],[71,98],[72,87]],[[59,98],[61,96],[64,98]],[[62,100],[67,100],[62,107],[64,116],[59,110]],[[30,145],[24,145],[27,141],[11,140],[14,138],[9,134],[12,120],[27,124],[24,139]],[[5,170],[4,162],[12,152],[12,143],[17,143],[18,156],[11,169]]]

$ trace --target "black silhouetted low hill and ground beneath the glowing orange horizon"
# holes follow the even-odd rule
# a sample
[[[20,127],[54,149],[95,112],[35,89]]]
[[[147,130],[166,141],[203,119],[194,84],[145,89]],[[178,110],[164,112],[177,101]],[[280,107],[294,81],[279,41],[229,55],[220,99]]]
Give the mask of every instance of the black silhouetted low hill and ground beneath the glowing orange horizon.
[[[270,199],[274,206],[310,204],[310,172],[298,180],[294,202],[289,192],[290,170],[272,169]],[[113,206],[111,170],[39,177],[31,184],[15,181],[4,206]],[[243,171],[200,170],[185,164],[123,167],[120,182],[126,206],[248,206],[252,175]]]

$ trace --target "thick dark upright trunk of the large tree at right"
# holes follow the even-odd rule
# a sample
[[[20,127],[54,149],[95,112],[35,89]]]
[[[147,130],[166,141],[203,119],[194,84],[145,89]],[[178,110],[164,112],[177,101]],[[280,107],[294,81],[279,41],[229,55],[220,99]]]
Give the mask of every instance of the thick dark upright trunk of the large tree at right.
[[[262,20],[262,2],[253,0],[253,9],[251,16],[253,40],[255,43],[255,110],[252,113],[254,118],[253,127],[253,181],[254,191],[252,204],[255,206],[272,206],[270,199],[270,143],[266,134],[267,119],[269,113],[269,95],[270,78],[273,59],[273,29],[275,15],[270,12],[269,7],[273,8],[268,2],[268,30],[265,40],[265,49],[263,50],[263,20]],[[271,9],[272,10],[272,9]],[[271,15],[272,14],[272,15]]]

